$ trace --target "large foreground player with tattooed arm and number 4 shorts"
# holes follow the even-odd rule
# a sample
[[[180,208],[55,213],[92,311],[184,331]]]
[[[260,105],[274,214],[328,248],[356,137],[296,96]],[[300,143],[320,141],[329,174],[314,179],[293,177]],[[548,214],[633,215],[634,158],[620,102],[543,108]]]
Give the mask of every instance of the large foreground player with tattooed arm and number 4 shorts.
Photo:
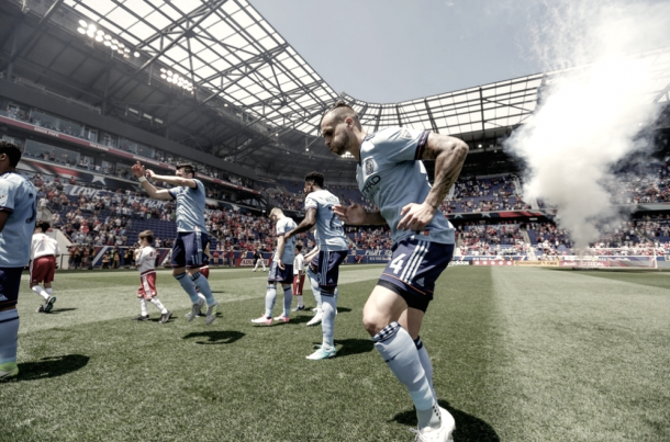
[[[393,256],[370,294],[362,322],[375,347],[414,401],[418,441],[448,441],[451,415],[437,405],[433,367],[418,332],[435,281],[454,254],[454,226],[438,207],[460,173],[468,146],[445,135],[402,127],[362,131],[356,112],[343,102],[321,121],[328,149],[357,160],[360,192],[378,212],[359,204],[334,208],[349,225],[391,228]],[[421,160],[435,160],[431,186]]]

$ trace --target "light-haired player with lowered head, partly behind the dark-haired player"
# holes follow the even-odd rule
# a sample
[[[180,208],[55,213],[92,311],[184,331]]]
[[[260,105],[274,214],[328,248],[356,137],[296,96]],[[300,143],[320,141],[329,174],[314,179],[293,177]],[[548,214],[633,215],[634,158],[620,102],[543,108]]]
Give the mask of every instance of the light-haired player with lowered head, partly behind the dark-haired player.
[[[254,324],[272,325],[272,308],[277,299],[277,283],[283,288],[283,313],[276,317],[279,322],[288,322],[291,311],[291,302],[293,294],[291,293],[291,283],[293,282],[293,259],[295,254],[295,239],[284,239],[284,234],[295,228],[295,222],[283,214],[279,207],[270,211],[270,219],[276,223],[275,230],[277,231],[277,249],[272,256],[270,264],[270,273],[268,273],[268,285],[265,295],[265,313],[256,319],[252,319]]]

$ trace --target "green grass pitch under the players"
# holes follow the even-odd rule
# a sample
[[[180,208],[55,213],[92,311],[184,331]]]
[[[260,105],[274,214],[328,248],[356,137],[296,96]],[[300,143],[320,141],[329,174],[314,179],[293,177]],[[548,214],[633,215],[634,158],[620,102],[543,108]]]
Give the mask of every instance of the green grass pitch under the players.
[[[411,398],[361,326],[380,272],[342,269],[326,361],[305,359],[321,341],[311,313],[249,322],[266,285],[249,269],[212,270],[223,313],[209,327],[187,322],[189,299],[164,270],[166,325],[153,305],[150,321],[130,320],[136,271],[57,273],[49,315],[24,282],[0,441],[410,441]],[[456,442],[669,441],[669,287],[658,271],[447,270],[422,338]]]

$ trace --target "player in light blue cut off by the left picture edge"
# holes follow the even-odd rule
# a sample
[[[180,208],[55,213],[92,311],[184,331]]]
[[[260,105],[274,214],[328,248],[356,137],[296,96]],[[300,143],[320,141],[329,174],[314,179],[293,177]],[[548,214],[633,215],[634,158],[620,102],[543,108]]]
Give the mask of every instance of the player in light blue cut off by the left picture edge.
[[[0,140],[0,379],[19,374],[19,286],[31,257],[37,190],[16,172],[21,150]]]

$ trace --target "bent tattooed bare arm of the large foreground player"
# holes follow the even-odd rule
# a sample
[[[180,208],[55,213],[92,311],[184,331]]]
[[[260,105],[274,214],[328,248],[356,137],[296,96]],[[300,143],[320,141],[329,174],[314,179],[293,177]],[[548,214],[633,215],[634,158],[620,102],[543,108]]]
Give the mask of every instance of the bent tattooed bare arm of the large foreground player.
[[[399,230],[422,230],[431,223],[456,182],[468,150],[468,145],[458,138],[438,134],[428,136],[422,159],[435,160],[435,182],[423,203],[407,204],[402,208]]]

